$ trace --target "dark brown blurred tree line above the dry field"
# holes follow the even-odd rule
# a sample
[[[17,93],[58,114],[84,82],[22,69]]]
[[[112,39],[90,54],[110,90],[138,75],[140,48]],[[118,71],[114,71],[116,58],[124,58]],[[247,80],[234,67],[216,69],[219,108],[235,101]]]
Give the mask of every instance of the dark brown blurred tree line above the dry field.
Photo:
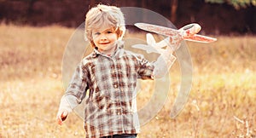
[[[7,24],[77,27],[97,3],[150,9],[177,28],[197,22],[207,34],[256,33],[255,0],[0,0],[0,20]]]

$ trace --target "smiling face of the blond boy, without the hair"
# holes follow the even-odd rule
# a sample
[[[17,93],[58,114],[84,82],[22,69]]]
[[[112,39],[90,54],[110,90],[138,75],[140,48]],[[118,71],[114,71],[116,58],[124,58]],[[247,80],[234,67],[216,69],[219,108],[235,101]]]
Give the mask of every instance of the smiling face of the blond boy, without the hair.
[[[93,43],[100,52],[106,55],[113,53],[115,49],[115,42],[118,40],[118,34],[113,27],[102,30],[95,30],[92,32]]]

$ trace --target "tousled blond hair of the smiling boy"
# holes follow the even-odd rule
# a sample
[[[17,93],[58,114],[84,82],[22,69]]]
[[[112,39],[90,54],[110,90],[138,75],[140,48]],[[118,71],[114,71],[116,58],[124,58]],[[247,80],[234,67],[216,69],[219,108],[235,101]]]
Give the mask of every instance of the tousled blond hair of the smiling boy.
[[[85,16],[85,39],[88,39],[92,47],[95,47],[92,39],[92,31],[104,30],[114,27],[119,39],[125,34],[125,18],[121,10],[115,6],[98,4],[90,9]]]

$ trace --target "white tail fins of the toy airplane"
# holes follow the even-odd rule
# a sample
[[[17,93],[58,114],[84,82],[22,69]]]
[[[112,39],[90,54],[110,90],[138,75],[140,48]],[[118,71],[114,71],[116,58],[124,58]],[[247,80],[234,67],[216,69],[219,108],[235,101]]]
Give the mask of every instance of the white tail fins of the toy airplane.
[[[131,47],[136,49],[143,49],[148,54],[150,53],[161,54],[165,51],[165,49],[162,49],[162,48],[166,47],[169,44],[169,37],[165,38],[159,43],[155,42],[154,37],[151,33],[147,33],[146,37],[147,37],[147,44],[135,44],[135,45],[132,45]]]

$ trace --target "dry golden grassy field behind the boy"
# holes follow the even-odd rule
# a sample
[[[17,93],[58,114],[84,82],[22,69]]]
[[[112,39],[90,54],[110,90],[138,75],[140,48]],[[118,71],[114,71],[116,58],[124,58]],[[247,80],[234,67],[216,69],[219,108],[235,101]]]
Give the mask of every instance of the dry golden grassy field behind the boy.
[[[74,113],[64,125],[55,123],[64,93],[62,55],[73,31],[0,25],[0,137],[84,136],[83,121]],[[217,38],[211,44],[188,43],[193,86],[183,112],[170,118],[181,79],[176,62],[165,106],[138,137],[256,137],[256,37]],[[138,95],[139,108],[152,93]]]

